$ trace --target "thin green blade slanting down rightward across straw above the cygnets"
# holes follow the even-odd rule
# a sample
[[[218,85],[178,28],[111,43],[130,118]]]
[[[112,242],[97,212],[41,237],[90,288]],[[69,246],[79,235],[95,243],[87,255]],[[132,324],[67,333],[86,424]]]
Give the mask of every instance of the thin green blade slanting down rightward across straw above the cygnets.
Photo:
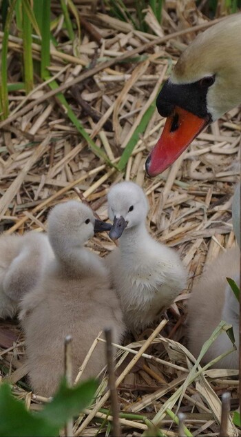
[[[52,90],[55,90],[56,88],[59,87],[59,85],[57,84],[56,81],[52,81],[49,84],[50,88]],[[82,135],[82,137],[86,140],[87,144],[90,146],[92,152],[94,152],[94,154],[96,156],[98,156],[99,158],[104,159],[104,161],[109,164],[110,166],[112,166],[112,163],[109,161],[109,158],[107,157],[107,155],[105,154],[105,152],[103,152],[103,150],[101,150],[100,148],[98,148],[98,146],[96,146],[96,144],[94,144],[94,141],[90,138],[90,135],[87,134],[85,128],[83,127],[82,123],[78,120],[78,118],[76,117],[76,115],[73,113],[72,109],[70,108],[70,105],[67,103],[67,100],[65,99],[64,95],[62,93],[58,93],[56,94],[56,97],[59,99],[59,101],[61,102],[61,104],[65,107],[66,111],[67,111],[67,116],[69,117],[69,119],[72,121],[72,123],[74,124],[74,126],[76,127],[76,129],[78,130],[78,132]]]

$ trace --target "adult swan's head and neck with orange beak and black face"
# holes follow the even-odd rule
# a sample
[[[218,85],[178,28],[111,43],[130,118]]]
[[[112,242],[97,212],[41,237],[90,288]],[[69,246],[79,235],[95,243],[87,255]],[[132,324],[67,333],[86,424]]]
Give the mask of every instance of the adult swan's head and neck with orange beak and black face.
[[[167,117],[146,162],[149,176],[162,173],[191,141],[241,103],[241,14],[199,34],[182,52],[156,106]]]

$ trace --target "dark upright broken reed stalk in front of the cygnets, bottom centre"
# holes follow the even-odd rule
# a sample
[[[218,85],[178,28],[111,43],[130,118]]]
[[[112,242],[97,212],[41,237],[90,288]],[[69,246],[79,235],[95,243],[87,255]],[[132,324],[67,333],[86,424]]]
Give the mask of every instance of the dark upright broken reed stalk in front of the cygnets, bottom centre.
[[[116,391],[116,378],[114,375],[114,364],[113,364],[113,346],[112,346],[112,329],[105,329],[105,340],[106,340],[106,360],[107,360],[107,371],[109,376],[109,392],[111,400],[111,410],[113,416],[113,435],[121,436],[121,427],[119,421],[119,408],[118,408],[118,397]]]

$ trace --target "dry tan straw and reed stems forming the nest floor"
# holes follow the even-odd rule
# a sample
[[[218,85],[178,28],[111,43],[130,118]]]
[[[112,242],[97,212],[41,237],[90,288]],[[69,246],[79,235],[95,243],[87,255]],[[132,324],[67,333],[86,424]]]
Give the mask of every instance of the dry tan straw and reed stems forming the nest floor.
[[[100,13],[103,8],[101,2],[94,5],[97,12],[92,10],[93,1],[87,0],[84,3],[74,1],[78,15],[85,17],[92,28],[98,30],[101,42],[96,43],[92,34],[81,26],[79,55],[78,48],[76,53],[76,40],[74,44],[67,41],[66,28],[61,27],[60,23],[54,30],[58,46],[51,49],[49,71],[65,90],[73,80],[78,80],[77,88],[87,104],[85,109],[81,106],[81,99],[77,101],[77,93],[65,91],[65,99],[81,121],[85,132],[92,135],[94,143],[101,150],[106,150],[107,156],[114,155],[114,166],[128,150],[125,156],[129,170],[127,172],[125,166],[121,172],[110,168],[105,159],[93,153],[68,118],[58,97],[50,97],[49,93],[58,93],[57,88],[50,91],[47,82],[36,82],[32,95],[26,96],[23,90],[9,91],[10,117],[3,121],[0,136],[1,196],[8,192],[4,202],[0,201],[1,212],[8,206],[1,220],[1,231],[11,234],[17,231],[21,234],[30,229],[44,230],[50,208],[56,203],[76,198],[73,189],[75,186],[102,220],[106,220],[106,193],[112,184],[129,178],[138,182],[147,194],[150,206],[147,226],[151,235],[180,253],[189,271],[188,291],[191,291],[193,280],[198,280],[207,260],[216,258],[223,251],[222,247],[230,249],[235,244],[231,202],[240,175],[240,108],[231,110],[218,120],[215,128],[211,124],[198,135],[179,166],[172,166],[162,175],[149,179],[145,173],[145,160],[160,137],[165,119],[155,109],[156,95],[152,103],[149,102],[151,106],[148,107],[147,101],[156,86],[157,78],[163,75],[164,83],[169,77],[171,65],[176,64],[183,48],[199,32],[213,25],[213,20],[205,16],[207,2],[201,2],[202,11],[195,3],[190,8],[190,2],[162,2],[163,39],[154,35],[150,28],[145,28],[143,32],[136,30],[130,21],[112,21],[109,14]],[[125,2],[125,6],[131,14],[134,13],[132,3]],[[52,2],[52,17],[56,14],[58,18],[59,13],[59,3]],[[225,10],[216,11],[217,20],[214,21],[226,13]],[[23,56],[23,43],[20,38],[16,38],[16,29],[16,26],[11,27],[8,39],[8,83],[12,80],[22,81],[19,59]],[[153,29],[155,31],[156,27]],[[0,32],[0,41],[3,41],[3,32]],[[39,57],[39,50],[41,47],[35,44],[34,57]],[[149,65],[144,72],[147,61]],[[87,68],[81,71],[82,66]],[[137,66],[143,66],[143,71],[140,71],[140,67],[138,77]],[[119,106],[118,96],[126,81],[129,81],[129,88],[126,95],[121,96]],[[45,109],[49,108],[50,102],[53,107],[47,113]],[[138,115],[145,105],[148,109],[140,122]],[[98,122],[92,118],[92,110],[96,111]],[[112,117],[114,110],[118,124]],[[143,122],[146,124],[143,125]],[[121,144],[116,144],[115,133],[119,126]],[[129,145],[127,148],[122,146],[133,126],[136,130],[132,136],[135,144],[132,151]],[[104,137],[102,132],[105,133]],[[45,148],[41,142],[48,133],[50,139],[45,142]],[[37,148],[39,156],[34,155]],[[20,173],[21,179],[14,184]],[[89,240],[86,246],[103,257],[116,249],[104,233]],[[191,434],[206,432],[213,435],[219,430],[219,398],[224,391],[231,391],[232,409],[238,408],[238,371],[211,369],[200,373],[198,370],[193,376],[193,384],[187,385],[191,366],[189,351],[184,346],[187,344],[185,318],[188,291],[179,295],[171,310],[167,310],[169,322],[165,338],[157,336],[155,340],[146,342],[143,338],[149,335],[148,330],[143,333],[140,341],[118,347],[117,366],[123,377],[118,384],[122,417],[125,415],[121,419],[123,434],[137,436],[143,433],[148,428],[147,418],[153,422],[157,411],[161,410],[162,419],[156,418],[158,427],[168,436],[177,435],[178,430],[174,419],[169,417],[169,409],[177,414],[179,408],[179,411],[185,412],[185,425]],[[31,394],[28,380],[23,378],[23,340],[24,336],[21,336],[14,321],[0,320],[0,365],[3,378],[12,378],[14,395],[25,400],[27,407],[41,408],[45,399]],[[148,346],[144,356],[138,355],[135,365],[133,363],[132,367],[127,367],[125,358],[133,357],[143,346]],[[105,380],[100,387],[101,393],[103,386]],[[101,394],[100,398],[102,401]],[[174,399],[173,402],[170,398]],[[106,408],[105,416],[111,421],[109,401],[105,400],[101,406]],[[89,418],[89,411],[85,411],[85,418]],[[138,419],[128,411],[135,411]],[[98,415],[105,417],[101,412]],[[94,416],[92,414],[92,420],[86,427],[81,414],[81,418],[74,424],[74,434],[78,434],[80,422],[81,425],[85,423],[81,435],[95,436],[100,429],[108,432],[109,423],[105,421],[100,424],[99,418],[95,420]],[[229,424],[229,435],[238,435],[239,431],[232,424],[231,418]]]

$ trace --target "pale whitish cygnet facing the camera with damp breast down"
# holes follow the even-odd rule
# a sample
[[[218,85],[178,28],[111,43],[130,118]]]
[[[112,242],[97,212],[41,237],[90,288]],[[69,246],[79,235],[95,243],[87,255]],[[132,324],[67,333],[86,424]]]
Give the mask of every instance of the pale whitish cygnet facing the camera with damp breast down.
[[[107,257],[112,283],[127,327],[140,331],[174,302],[185,288],[187,273],[178,253],[147,232],[147,198],[137,184],[113,186],[108,211],[114,220],[109,236],[119,238],[118,248]]]

